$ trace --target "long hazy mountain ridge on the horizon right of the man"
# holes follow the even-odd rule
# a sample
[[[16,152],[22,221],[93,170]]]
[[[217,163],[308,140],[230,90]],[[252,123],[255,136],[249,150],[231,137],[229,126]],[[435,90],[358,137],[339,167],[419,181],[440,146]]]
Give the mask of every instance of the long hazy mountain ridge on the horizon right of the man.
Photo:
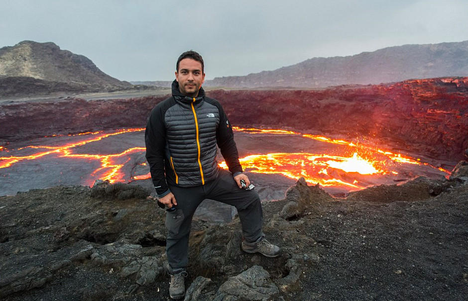
[[[468,41],[403,45],[347,57],[313,58],[273,71],[223,76],[206,85],[225,87],[327,87],[414,78],[468,75]]]

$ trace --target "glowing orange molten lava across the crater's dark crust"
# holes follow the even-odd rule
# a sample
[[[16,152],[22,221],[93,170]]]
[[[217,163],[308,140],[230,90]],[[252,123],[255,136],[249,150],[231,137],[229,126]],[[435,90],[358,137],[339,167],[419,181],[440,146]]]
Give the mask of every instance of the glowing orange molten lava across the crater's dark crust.
[[[345,187],[348,191],[375,185],[375,182],[370,181],[370,179],[394,177],[398,174],[398,168],[404,164],[428,165],[436,170],[449,173],[443,168],[436,168],[428,163],[421,162],[420,159],[380,150],[356,141],[331,139],[324,136],[302,134],[282,129],[245,129],[237,127],[233,127],[233,129],[234,131],[244,132],[248,135],[297,136],[299,138],[312,139],[321,144],[330,144],[330,147],[328,147],[330,151],[326,151],[326,153],[253,153],[240,158],[240,163],[244,170],[253,173],[280,174],[291,179],[304,177],[309,183],[319,183],[324,187]],[[92,185],[97,178],[109,180],[111,183],[148,179],[150,175],[146,163],[135,163],[134,161],[129,163],[130,154],[141,155],[145,151],[143,146],[130,147],[110,154],[96,153],[100,151],[83,153],[84,151],[90,152],[89,149],[92,149],[90,143],[98,142],[111,136],[142,131],[144,129],[137,128],[117,130],[113,133],[88,132],[68,135],[71,136],[70,139],[75,141],[60,146],[27,146],[16,150],[6,150],[0,147],[0,169],[5,170],[13,164],[22,161],[36,160],[45,156],[55,156],[58,158],[84,159],[87,160],[88,164],[97,163],[99,165],[91,174],[84,175],[86,179],[84,183],[80,184]],[[55,136],[49,137],[55,139]],[[143,144],[143,140],[141,140],[141,143]],[[83,148],[85,145],[88,146]],[[332,151],[332,145],[340,145],[341,147],[339,150],[334,149]],[[15,155],[7,155],[7,153],[14,153]],[[133,166],[125,167],[126,164],[133,164]],[[128,170],[133,170],[135,164],[140,165],[140,170],[145,171],[128,174]],[[220,166],[227,168],[225,162],[220,163]]]

